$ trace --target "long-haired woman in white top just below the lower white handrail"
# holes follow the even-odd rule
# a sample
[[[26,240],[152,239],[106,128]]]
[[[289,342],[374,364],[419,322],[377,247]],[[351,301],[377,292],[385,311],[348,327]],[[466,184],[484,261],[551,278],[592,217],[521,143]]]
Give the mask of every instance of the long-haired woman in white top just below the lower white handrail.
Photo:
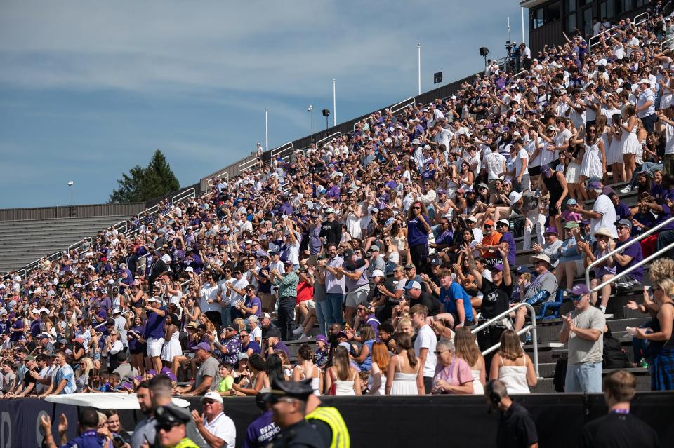
[[[514,330],[501,334],[501,347],[491,359],[489,379],[500,379],[508,387],[508,394],[529,393],[529,387],[538,383],[534,363],[522,349],[522,342]]]

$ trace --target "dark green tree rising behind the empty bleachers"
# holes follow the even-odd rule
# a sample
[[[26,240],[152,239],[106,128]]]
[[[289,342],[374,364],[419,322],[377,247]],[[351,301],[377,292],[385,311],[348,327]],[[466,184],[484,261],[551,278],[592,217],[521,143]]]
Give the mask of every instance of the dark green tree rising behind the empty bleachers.
[[[149,201],[180,189],[178,178],[159,149],[154,151],[147,167],[136,165],[128,175],[123,173],[117,184],[119,188],[112,191],[109,203]]]

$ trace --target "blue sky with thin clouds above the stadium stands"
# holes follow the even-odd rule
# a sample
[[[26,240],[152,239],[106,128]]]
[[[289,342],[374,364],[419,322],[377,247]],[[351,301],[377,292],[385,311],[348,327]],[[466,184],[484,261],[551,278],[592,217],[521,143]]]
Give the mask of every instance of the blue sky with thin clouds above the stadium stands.
[[[181,185],[483,66],[518,1],[3,1],[0,208],[104,203],[164,151]],[[332,117],[330,118],[332,123]]]

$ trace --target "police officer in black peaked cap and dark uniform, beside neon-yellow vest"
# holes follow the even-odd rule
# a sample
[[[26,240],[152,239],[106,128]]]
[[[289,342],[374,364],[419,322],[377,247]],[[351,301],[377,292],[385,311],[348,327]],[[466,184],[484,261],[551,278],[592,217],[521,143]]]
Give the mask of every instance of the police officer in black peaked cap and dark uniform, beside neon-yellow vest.
[[[304,419],[307,400],[313,389],[304,381],[272,381],[265,400],[272,408],[275,423],[281,428],[273,448],[327,448],[317,430]]]

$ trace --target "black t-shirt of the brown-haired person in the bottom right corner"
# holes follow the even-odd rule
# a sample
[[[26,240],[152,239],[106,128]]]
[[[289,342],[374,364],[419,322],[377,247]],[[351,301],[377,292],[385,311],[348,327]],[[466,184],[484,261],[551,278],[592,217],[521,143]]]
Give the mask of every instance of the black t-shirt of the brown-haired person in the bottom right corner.
[[[633,414],[609,414],[583,426],[578,446],[581,448],[655,448],[658,435]]]

